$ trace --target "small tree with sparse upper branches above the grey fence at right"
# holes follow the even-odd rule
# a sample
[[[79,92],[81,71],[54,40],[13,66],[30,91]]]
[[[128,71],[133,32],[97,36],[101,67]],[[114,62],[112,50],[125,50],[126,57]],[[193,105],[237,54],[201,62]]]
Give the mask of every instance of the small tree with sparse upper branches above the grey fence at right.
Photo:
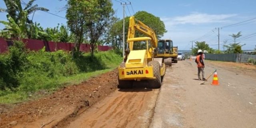
[[[231,36],[234,39],[234,42],[228,45],[223,45],[227,49],[225,53],[242,53],[242,46],[244,46],[245,44],[241,45],[240,42],[236,42],[236,39],[242,36],[242,32],[240,31],[237,34],[232,34],[229,36]]]

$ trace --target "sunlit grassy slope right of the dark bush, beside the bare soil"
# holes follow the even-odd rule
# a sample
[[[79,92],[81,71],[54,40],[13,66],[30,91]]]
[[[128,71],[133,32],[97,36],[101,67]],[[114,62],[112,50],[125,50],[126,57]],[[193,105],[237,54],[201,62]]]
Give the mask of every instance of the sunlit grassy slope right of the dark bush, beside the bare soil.
[[[15,77],[18,87],[0,90],[0,104],[33,100],[63,86],[80,84],[92,76],[114,70],[122,61],[113,51],[97,52],[95,56],[86,53],[75,60],[64,51],[39,51],[29,53],[26,59],[24,70],[18,70],[19,75]],[[7,65],[8,61],[5,62]]]

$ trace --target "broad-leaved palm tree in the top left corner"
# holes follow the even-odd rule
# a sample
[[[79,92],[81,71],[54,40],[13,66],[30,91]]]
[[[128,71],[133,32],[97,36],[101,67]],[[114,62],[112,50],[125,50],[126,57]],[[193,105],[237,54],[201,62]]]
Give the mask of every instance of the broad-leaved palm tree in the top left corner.
[[[0,23],[6,25],[6,28],[1,31],[2,35],[10,33],[11,38],[27,38],[30,37],[31,32],[29,32],[30,26],[33,25],[32,20],[28,19],[28,15],[32,14],[38,10],[49,11],[47,8],[38,7],[38,5],[32,6],[35,0],[30,0],[28,4],[24,3],[22,0],[4,0],[6,8],[0,8],[0,12],[7,12],[6,15],[9,22],[0,21]],[[24,9],[21,4],[24,4]],[[5,33],[5,34],[3,34]]]

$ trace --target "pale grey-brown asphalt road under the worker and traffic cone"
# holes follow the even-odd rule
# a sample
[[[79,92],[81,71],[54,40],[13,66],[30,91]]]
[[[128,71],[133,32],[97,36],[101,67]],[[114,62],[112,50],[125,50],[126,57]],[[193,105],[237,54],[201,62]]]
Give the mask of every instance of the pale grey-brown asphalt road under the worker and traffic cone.
[[[256,77],[226,70],[206,62],[203,85],[196,63],[179,61],[167,68],[150,128],[256,128]]]

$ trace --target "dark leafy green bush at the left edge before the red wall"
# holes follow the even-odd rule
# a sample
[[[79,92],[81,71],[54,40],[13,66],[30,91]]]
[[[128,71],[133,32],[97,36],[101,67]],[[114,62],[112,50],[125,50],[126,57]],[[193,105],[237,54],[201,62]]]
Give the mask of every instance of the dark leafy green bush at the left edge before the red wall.
[[[0,90],[14,90],[18,87],[20,77],[28,66],[26,49],[23,42],[14,41],[9,53],[0,55]]]

